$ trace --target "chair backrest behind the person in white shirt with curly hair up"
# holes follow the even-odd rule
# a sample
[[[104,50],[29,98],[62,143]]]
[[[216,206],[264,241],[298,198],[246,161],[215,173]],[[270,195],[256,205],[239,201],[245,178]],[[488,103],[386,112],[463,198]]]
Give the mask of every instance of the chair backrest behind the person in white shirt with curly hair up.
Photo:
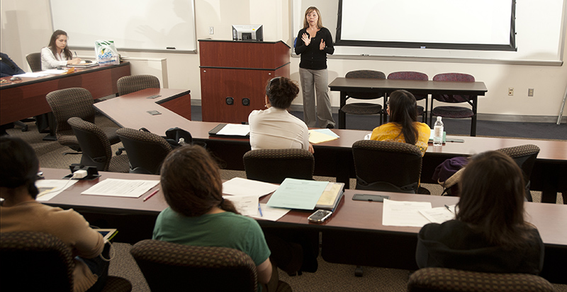
[[[286,178],[313,179],[315,158],[303,149],[258,149],[245,153],[246,177],[281,184]]]

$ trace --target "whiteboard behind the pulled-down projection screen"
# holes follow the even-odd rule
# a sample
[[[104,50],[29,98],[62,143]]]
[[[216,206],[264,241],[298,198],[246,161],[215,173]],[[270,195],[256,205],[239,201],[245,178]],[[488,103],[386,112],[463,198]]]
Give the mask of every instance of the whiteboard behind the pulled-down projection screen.
[[[345,0],[348,1],[348,0]],[[395,1],[395,0],[388,0]],[[384,5],[388,1],[381,1]],[[328,28],[335,40],[337,28],[337,12],[339,0],[293,0],[291,13],[292,35],[296,38],[303,28],[305,9],[316,6],[322,16],[323,26]],[[361,8],[364,10],[364,7]],[[516,47],[517,51],[483,51],[483,50],[442,50],[430,48],[396,48],[396,47],[348,47],[335,46],[335,56],[359,57],[392,57],[402,59],[449,59],[451,60],[484,60],[488,62],[535,62],[538,64],[561,65],[563,59],[563,43],[565,35],[566,4],[565,0],[522,0],[516,2]],[[400,11],[398,19],[415,21],[411,26],[420,26],[420,21],[427,19],[407,17],[408,13]],[[376,15],[376,17],[381,17]],[[396,26],[361,29],[395,30]]]

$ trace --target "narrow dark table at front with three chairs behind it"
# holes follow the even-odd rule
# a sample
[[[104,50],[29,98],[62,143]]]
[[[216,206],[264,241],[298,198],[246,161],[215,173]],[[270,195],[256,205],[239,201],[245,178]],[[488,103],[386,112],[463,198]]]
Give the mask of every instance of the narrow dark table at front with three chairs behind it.
[[[473,117],[471,121],[471,136],[476,136],[476,109],[478,96],[488,91],[484,82],[439,82],[431,80],[405,79],[366,79],[337,77],[329,87],[331,91],[340,91],[340,108],[347,104],[347,92],[376,92],[383,94],[383,108],[386,108],[388,94],[398,89],[405,89],[413,94],[459,94],[469,96],[472,101]],[[433,108],[433,102],[431,102]],[[431,112],[431,109],[430,109]],[[339,128],[345,128],[346,114],[339,111]],[[386,121],[386,116],[383,117]]]

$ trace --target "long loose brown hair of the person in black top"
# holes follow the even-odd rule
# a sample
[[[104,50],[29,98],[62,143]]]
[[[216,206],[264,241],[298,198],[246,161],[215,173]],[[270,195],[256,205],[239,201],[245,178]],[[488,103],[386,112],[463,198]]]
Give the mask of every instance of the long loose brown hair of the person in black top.
[[[522,170],[509,156],[498,151],[475,155],[459,181],[456,219],[494,245],[521,245],[532,228],[524,221],[524,187]]]

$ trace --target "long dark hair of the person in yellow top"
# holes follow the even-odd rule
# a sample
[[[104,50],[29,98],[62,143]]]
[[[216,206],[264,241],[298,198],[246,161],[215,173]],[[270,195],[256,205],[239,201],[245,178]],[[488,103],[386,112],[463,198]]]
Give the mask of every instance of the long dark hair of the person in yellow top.
[[[417,126],[417,101],[415,96],[409,91],[396,90],[388,98],[390,107],[390,121],[401,127],[400,134],[403,134],[405,142],[415,145],[419,133]]]

